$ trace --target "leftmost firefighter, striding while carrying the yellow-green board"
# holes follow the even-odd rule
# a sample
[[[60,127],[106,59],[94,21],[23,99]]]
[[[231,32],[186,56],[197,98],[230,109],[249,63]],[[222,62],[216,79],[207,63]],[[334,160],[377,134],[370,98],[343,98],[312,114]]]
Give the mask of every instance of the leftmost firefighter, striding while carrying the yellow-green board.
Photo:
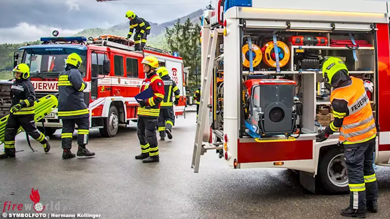
[[[34,121],[35,89],[30,81],[30,68],[21,63],[13,70],[16,79],[11,86],[11,110],[4,132],[4,153],[1,158],[15,157],[15,136],[21,126],[28,135],[50,150],[50,143],[43,133],[38,132]]]

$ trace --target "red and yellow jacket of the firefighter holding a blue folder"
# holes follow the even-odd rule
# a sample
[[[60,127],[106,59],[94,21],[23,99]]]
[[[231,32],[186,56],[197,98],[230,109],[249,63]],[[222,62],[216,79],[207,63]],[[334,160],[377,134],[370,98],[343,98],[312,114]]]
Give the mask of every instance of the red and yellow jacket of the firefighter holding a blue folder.
[[[140,102],[141,107],[137,109],[138,117],[158,118],[160,115],[160,103],[164,98],[164,84],[161,78],[153,72],[142,82],[140,92],[151,87],[153,96]]]

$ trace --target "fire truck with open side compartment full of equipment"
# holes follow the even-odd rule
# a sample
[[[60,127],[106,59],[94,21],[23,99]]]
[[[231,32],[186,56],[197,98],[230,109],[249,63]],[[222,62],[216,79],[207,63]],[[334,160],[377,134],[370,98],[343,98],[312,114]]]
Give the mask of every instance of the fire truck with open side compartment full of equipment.
[[[339,133],[315,137],[333,120],[332,88],[321,72],[330,56],[373,85],[367,96],[380,128],[374,162],[390,166],[389,6],[219,0],[216,11],[205,11],[194,171],[200,155],[216,149],[234,169],[287,168],[310,191],[348,191]]]

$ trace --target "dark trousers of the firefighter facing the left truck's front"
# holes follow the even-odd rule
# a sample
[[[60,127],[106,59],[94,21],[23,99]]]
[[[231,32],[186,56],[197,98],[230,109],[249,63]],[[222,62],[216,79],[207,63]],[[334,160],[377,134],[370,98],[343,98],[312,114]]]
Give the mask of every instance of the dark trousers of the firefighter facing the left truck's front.
[[[89,136],[89,117],[62,119],[62,148],[70,150],[72,148],[72,136],[74,124],[77,124],[77,144],[85,147]]]

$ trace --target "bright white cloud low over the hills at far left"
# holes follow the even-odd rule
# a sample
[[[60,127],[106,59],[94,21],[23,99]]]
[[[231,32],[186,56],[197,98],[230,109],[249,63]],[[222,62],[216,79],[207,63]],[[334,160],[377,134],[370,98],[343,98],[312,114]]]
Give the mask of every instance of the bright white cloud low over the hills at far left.
[[[37,41],[41,37],[50,36],[53,30],[58,30],[58,32],[60,32],[60,36],[70,36],[80,31],[43,25],[37,26],[23,22],[13,28],[0,28],[0,44]]]

